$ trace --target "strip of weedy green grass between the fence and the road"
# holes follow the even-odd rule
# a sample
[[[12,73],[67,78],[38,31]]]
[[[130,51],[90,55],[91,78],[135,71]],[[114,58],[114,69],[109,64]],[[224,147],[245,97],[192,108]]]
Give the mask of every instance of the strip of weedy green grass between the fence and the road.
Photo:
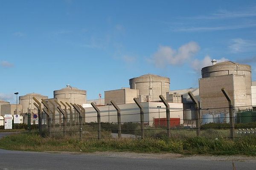
[[[256,155],[256,137],[234,139],[82,139],[74,137],[43,138],[36,133],[18,133],[0,139],[0,148],[31,151],[131,151],[143,153],[181,153],[212,155]],[[82,150],[82,151],[80,151]]]

